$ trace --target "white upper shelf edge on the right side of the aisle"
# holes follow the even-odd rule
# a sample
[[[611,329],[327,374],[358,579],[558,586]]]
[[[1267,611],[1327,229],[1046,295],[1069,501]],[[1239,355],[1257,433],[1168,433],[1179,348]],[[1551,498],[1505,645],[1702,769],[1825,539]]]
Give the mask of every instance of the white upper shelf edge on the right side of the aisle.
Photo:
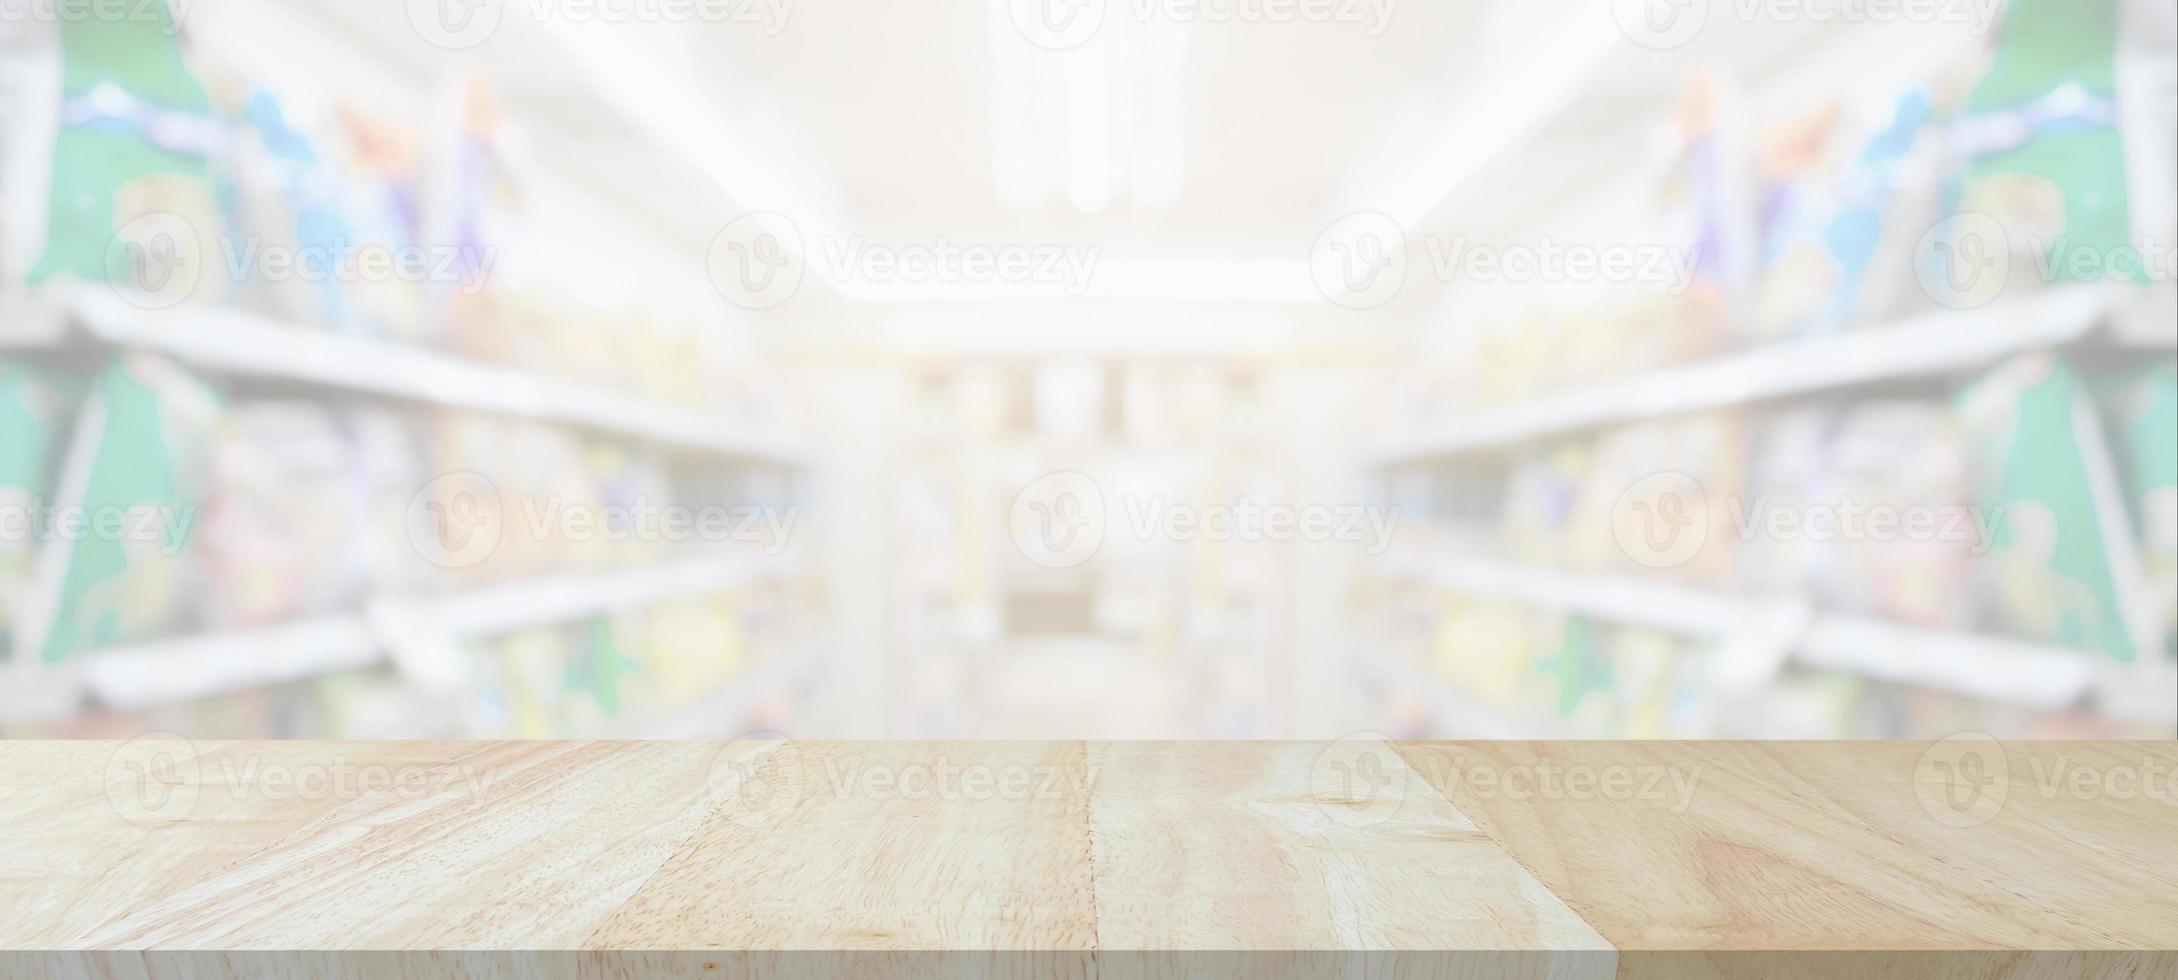
[[[1372,453],[1376,464],[1477,453],[1549,436],[1642,418],[1718,409],[1769,399],[1954,375],[2004,355],[2069,344],[2130,303],[2124,285],[2036,292],[1982,309],[1951,309],[1895,324],[1764,346],[1644,377],[1488,409],[1429,427]],[[2132,320],[2132,318],[2126,318]]]

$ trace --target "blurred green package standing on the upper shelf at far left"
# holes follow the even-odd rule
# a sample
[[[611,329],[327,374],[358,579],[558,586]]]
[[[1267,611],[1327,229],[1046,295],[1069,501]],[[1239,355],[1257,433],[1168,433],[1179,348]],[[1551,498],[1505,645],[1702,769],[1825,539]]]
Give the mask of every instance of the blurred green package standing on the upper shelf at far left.
[[[61,24],[61,113],[46,246],[30,283],[115,283],[146,305],[227,298],[229,128],[166,4]]]

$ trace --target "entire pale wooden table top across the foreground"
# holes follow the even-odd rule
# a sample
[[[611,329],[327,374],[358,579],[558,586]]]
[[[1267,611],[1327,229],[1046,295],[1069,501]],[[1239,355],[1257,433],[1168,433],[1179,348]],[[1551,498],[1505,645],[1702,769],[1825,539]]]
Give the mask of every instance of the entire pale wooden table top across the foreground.
[[[2178,976],[2178,743],[0,743],[0,976]]]

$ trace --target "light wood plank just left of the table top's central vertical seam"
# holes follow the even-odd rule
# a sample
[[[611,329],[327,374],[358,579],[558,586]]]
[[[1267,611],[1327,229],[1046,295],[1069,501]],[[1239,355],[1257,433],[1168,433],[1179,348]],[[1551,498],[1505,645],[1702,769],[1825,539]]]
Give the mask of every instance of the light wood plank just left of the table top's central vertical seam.
[[[782,743],[586,945],[1093,950],[1087,773],[1082,743]]]

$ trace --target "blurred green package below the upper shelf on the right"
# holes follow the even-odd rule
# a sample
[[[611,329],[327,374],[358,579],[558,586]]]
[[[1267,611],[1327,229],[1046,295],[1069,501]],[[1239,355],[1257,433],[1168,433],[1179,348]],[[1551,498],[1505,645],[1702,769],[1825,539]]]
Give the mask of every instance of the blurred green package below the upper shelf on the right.
[[[2132,660],[2110,514],[2095,503],[2108,460],[2097,460],[2102,433],[2078,375],[2049,355],[2021,355],[1967,385],[1958,412],[1978,501],[1993,510],[1982,571],[1999,625]]]

